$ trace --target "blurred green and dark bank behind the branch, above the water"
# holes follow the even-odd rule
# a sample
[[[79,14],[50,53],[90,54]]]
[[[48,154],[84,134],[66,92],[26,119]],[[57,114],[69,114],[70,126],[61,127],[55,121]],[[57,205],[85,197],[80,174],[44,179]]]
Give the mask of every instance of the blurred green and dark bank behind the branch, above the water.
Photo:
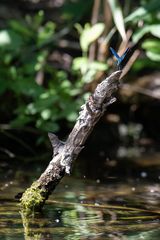
[[[110,46],[119,54],[129,46],[131,55],[118,100],[84,155],[103,161],[115,157],[115,148],[118,157],[156,150],[159,9],[159,0],[1,0],[1,159],[46,159],[47,132],[64,140],[85,99],[115,70]]]

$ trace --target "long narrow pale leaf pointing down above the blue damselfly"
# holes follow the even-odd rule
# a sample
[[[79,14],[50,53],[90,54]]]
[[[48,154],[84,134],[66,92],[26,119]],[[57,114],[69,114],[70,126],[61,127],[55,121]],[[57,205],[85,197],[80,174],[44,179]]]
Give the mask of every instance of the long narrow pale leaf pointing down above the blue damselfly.
[[[118,0],[108,0],[108,3],[111,8],[114,23],[115,23],[122,39],[125,41],[126,40],[126,31],[125,31],[123,13],[122,13],[122,9],[119,4],[119,1]]]

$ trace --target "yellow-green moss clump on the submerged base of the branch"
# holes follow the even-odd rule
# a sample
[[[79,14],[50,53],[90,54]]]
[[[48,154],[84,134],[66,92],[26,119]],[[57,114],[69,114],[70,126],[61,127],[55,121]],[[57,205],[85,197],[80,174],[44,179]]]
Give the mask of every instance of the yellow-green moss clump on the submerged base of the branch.
[[[22,211],[26,214],[34,214],[34,212],[40,211],[44,201],[46,193],[44,190],[39,188],[39,183],[34,182],[30,188],[28,188],[22,195],[20,199],[20,206]]]

